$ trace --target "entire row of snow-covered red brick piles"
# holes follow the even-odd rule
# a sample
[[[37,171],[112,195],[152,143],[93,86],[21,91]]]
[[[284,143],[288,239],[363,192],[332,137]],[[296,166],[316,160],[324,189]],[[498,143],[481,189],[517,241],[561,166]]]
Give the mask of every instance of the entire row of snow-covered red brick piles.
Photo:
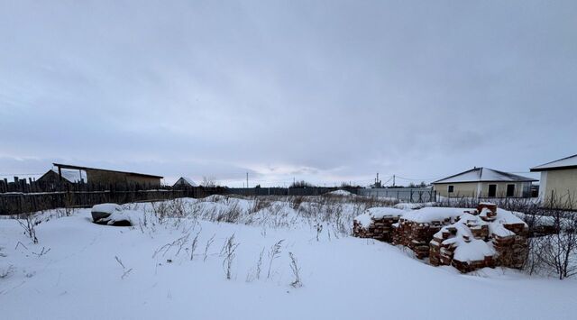
[[[496,205],[475,209],[425,208],[397,213],[371,208],[353,221],[353,235],[407,246],[418,259],[461,272],[503,266],[520,269],[527,258],[527,224]],[[455,254],[456,253],[456,254]]]

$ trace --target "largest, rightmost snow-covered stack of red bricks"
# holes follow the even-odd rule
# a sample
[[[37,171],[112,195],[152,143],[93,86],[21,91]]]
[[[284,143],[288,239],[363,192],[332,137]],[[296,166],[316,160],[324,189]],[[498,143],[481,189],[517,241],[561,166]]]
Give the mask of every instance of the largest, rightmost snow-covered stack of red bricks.
[[[470,272],[496,265],[521,268],[527,256],[527,224],[493,204],[480,204],[445,225],[429,242],[433,265]]]

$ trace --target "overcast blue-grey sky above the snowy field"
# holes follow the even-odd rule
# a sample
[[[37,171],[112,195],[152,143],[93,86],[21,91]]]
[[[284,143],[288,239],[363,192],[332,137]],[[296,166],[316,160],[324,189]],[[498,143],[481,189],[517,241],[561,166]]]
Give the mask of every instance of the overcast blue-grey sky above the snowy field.
[[[418,182],[577,153],[576,1],[0,4],[8,178]]]

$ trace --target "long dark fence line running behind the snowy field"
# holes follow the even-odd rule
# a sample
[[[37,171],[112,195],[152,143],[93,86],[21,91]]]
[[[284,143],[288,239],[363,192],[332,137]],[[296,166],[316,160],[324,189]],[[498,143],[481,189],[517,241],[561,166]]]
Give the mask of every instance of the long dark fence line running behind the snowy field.
[[[60,184],[42,186],[34,181],[14,178],[8,183],[0,180],[0,215],[19,215],[64,207],[87,207],[102,203],[125,204],[168,200],[179,197],[207,197],[210,195],[257,196],[321,196],[337,187],[159,187],[147,185]],[[409,202],[434,201],[431,189],[362,189],[344,188],[368,197],[398,197]]]

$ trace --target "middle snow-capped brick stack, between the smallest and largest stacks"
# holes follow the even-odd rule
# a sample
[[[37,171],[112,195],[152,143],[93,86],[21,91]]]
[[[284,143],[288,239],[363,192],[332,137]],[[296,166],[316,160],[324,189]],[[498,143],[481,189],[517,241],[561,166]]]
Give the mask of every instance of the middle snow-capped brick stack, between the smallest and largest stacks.
[[[469,209],[424,207],[409,211],[394,225],[393,242],[408,246],[418,259],[429,255],[429,242],[433,234],[444,225],[453,224],[456,218]]]

